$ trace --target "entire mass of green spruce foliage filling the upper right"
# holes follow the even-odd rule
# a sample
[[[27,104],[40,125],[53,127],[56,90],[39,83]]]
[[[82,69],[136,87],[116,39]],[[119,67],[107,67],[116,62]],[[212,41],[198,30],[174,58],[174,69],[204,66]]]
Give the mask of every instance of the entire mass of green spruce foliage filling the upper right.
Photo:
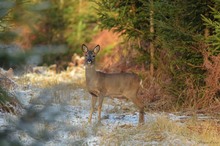
[[[207,26],[213,33],[208,38],[211,52],[219,53],[219,2],[215,0],[97,0],[102,28],[132,38],[136,42],[152,42],[156,48],[156,68],[171,78],[168,91],[185,102],[188,91],[205,85],[203,64],[204,32]],[[152,2],[152,3],[151,3]],[[215,7],[210,9],[209,7]],[[217,7],[217,8],[216,8]],[[150,11],[153,12],[154,34],[150,33]],[[201,17],[201,15],[203,17]],[[206,25],[204,25],[204,21]],[[138,43],[137,43],[138,44]],[[147,45],[146,45],[147,46]],[[142,54],[137,60],[149,62],[149,45],[137,48]],[[212,53],[213,54],[213,53]],[[192,85],[187,80],[191,80]],[[195,95],[202,96],[202,94]],[[189,98],[188,98],[189,99]]]

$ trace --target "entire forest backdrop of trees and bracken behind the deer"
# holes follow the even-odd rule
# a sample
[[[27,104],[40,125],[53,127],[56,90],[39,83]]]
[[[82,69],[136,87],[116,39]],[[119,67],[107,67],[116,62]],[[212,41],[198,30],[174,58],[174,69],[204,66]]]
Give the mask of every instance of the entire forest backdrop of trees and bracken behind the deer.
[[[97,41],[109,34],[110,43]],[[220,110],[218,0],[0,2],[2,68],[33,62],[65,70],[83,43],[97,42],[101,70],[143,79],[148,110]]]

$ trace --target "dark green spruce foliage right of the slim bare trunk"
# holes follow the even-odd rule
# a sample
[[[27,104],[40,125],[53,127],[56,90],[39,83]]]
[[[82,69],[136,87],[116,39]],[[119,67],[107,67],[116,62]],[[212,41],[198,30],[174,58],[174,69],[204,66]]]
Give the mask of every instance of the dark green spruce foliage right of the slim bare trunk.
[[[205,43],[204,32],[207,28],[201,15],[213,20],[209,9],[213,1],[177,0],[158,3],[155,7],[155,44],[161,51],[166,50],[166,60],[161,63],[167,66],[166,70],[172,77],[172,83],[166,87],[178,97],[179,105],[190,104],[192,100],[203,96],[206,72],[202,68],[202,52],[205,48],[201,43]],[[166,12],[167,9],[169,11]]]

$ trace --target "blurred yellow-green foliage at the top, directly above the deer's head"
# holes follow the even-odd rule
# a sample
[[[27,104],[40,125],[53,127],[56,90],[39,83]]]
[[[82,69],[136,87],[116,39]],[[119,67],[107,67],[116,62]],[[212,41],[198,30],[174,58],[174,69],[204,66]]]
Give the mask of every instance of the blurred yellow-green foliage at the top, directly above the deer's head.
[[[67,25],[65,38],[70,51],[81,53],[81,45],[89,43],[98,30],[94,3],[89,0],[65,2],[63,16]]]

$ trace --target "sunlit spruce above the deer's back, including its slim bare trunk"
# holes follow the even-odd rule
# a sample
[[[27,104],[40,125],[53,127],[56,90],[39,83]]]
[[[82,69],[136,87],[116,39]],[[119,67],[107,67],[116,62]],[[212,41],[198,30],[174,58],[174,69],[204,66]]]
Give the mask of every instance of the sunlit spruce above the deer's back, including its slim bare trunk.
[[[136,44],[134,48],[142,52],[141,58],[144,58],[144,62],[150,62],[147,68],[153,75],[155,68],[154,1],[100,0],[96,3],[101,28],[112,29],[126,36],[127,40],[132,40]]]

